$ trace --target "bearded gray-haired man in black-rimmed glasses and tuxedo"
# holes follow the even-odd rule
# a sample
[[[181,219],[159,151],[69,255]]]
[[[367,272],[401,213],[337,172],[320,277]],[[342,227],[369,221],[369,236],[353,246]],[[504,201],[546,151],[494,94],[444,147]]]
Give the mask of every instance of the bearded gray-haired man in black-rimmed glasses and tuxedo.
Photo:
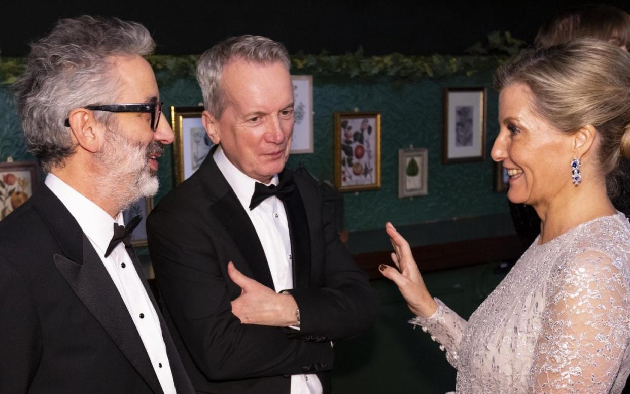
[[[0,222],[0,392],[190,393],[122,211],[173,142],[138,23],[61,20],[14,86],[48,175]]]

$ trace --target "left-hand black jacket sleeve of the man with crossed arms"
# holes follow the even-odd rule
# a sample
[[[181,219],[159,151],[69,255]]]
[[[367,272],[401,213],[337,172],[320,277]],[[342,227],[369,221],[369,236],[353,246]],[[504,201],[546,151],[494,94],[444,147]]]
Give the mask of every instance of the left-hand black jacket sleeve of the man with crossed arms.
[[[158,206],[147,220],[149,251],[175,328],[208,380],[239,380],[330,369],[331,345],[292,339],[282,328],[242,325],[232,315],[230,286],[209,223]],[[225,247],[225,245],[218,245]],[[225,261],[223,261],[225,260]]]

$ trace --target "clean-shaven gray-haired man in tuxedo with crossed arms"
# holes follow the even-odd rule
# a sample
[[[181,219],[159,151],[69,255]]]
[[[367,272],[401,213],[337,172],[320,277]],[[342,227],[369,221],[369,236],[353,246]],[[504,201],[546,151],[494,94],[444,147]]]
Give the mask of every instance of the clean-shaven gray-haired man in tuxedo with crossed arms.
[[[331,342],[377,298],[318,185],[284,169],[294,124],[284,46],[232,37],[202,55],[202,122],[217,144],[147,221],[163,311],[195,389],[329,393]]]

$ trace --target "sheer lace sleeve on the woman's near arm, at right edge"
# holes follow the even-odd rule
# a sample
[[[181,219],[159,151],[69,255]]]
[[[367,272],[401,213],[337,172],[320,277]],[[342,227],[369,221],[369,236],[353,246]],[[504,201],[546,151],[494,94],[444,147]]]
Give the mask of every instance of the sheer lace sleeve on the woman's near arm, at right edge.
[[[610,391],[629,339],[626,265],[588,251],[551,275],[529,392]]]

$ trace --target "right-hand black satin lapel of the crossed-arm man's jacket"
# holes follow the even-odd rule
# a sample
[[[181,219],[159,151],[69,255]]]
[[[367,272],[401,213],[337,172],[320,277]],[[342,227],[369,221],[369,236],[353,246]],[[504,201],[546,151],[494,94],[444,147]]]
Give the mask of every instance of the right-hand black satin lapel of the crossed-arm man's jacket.
[[[307,289],[311,286],[311,232],[300,190],[295,188],[289,200],[284,202],[289,218],[289,236],[293,262],[293,287]]]

